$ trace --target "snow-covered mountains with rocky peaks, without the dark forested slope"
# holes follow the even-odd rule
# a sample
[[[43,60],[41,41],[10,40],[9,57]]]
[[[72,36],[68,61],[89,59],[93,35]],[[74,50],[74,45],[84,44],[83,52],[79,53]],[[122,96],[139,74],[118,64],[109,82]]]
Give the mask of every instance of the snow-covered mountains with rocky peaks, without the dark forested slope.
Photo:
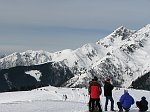
[[[30,50],[11,54],[0,59],[0,69],[60,62],[73,74],[64,86],[87,86],[92,76],[96,75],[102,83],[110,77],[115,86],[129,87],[150,71],[149,43],[150,25],[137,31],[121,26],[96,44],[86,44],[76,50],[55,53]]]

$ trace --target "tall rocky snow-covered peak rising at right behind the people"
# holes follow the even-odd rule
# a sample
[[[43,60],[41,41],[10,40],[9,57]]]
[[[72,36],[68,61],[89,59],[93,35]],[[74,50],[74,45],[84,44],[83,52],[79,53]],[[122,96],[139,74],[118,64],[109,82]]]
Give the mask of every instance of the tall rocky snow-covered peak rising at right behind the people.
[[[87,85],[90,76],[97,75],[102,81],[109,77],[116,86],[129,87],[132,81],[150,70],[149,41],[150,25],[137,31],[119,27],[109,36],[97,41],[97,46],[106,48],[103,48],[103,57],[92,63],[87,73],[73,77],[68,85]]]

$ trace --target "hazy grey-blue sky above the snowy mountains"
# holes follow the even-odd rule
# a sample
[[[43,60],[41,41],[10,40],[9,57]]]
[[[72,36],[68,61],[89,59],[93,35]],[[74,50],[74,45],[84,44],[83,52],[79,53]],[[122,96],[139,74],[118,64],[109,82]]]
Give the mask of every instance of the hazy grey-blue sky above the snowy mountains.
[[[150,0],[0,0],[0,54],[77,49],[150,24]]]

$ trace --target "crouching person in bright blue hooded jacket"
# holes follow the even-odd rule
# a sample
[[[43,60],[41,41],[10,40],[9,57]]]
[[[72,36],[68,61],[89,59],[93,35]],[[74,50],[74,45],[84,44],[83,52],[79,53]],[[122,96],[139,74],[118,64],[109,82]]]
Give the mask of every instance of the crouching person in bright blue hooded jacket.
[[[122,112],[123,109],[125,112],[130,110],[131,105],[134,104],[134,99],[131,95],[129,95],[127,90],[124,90],[124,94],[120,97],[120,101],[117,102],[119,111]]]

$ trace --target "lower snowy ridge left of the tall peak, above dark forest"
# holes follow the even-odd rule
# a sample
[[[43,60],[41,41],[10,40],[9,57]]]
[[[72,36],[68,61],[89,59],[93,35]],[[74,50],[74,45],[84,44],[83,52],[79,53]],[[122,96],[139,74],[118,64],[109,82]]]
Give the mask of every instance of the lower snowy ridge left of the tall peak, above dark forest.
[[[89,67],[105,55],[105,48],[95,44],[86,44],[79,49],[66,49],[55,53],[46,51],[28,50],[23,53],[13,53],[0,59],[0,69],[7,69],[15,66],[30,66],[47,63],[50,61],[64,61],[72,67],[78,63],[80,67]]]

